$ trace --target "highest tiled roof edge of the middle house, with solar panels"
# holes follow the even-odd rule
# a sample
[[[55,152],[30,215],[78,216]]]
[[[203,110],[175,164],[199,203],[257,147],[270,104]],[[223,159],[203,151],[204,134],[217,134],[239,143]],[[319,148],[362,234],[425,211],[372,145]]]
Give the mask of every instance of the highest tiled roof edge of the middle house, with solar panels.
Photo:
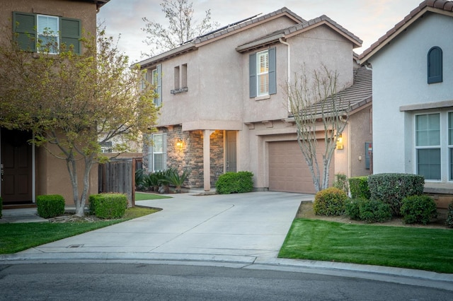
[[[282,7],[277,11],[273,11],[272,13],[268,13],[263,16],[260,16],[260,14],[256,15],[256,16],[252,16],[250,18],[246,18],[246,19],[240,20],[238,22],[231,23],[222,28],[218,28],[217,30],[214,30],[210,33],[201,35],[200,37],[195,37],[195,39],[185,42],[180,47],[168,50],[167,52],[158,54],[154,57],[150,57],[149,59],[145,59],[144,61],[140,61],[138,64],[142,67],[146,67],[151,64],[156,64],[157,62],[162,61],[164,59],[168,59],[168,58],[174,57],[178,54],[193,50],[197,47],[196,46],[197,44],[209,42],[210,40],[214,40],[214,39],[217,39],[218,37],[222,37],[222,35],[225,35],[225,36],[229,35],[236,30],[241,30],[247,26],[250,26],[250,25],[253,25],[256,23],[260,23],[263,20],[268,20],[270,18],[279,16],[279,15],[285,15],[285,16],[288,16],[289,18],[292,18],[294,20],[294,23],[305,22],[305,20],[303,18],[301,18],[300,16],[298,16],[296,13],[293,13],[286,7]]]

